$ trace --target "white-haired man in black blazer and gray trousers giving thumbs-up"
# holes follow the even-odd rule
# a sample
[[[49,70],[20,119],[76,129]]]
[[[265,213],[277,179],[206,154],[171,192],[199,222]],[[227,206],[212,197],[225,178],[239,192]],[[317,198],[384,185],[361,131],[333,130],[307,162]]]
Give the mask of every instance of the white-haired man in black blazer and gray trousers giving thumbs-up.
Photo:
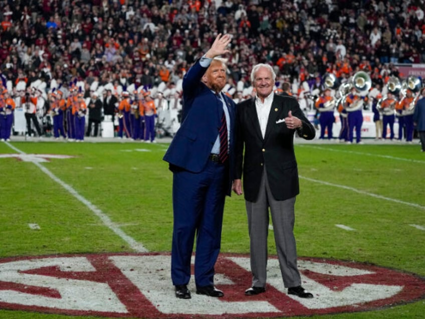
[[[270,65],[258,64],[251,73],[256,96],[237,106],[236,180],[242,194],[242,173],[250,235],[252,286],[246,295],[266,290],[269,208],[279,265],[289,294],[312,298],[301,286],[294,228],[295,198],[299,193],[294,133],[313,139],[315,129],[291,96],[273,92],[276,75]],[[245,147],[245,153],[243,149]]]

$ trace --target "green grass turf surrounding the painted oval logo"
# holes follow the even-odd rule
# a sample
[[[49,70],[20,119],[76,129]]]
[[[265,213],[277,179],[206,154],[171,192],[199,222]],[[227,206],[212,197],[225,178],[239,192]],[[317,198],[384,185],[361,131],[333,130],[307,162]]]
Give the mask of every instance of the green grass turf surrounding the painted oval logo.
[[[172,175],[162,161],[167,144],[12,145],[27,154],[75,156],[51,159],[41,165],[147,250],[170,251]],[[410,226],[425,226],[425,155],[418,145],[309,143],[296,144],[295,150],[301,188],[295,225],[299,256],[370,262],[425,276],[425,232]],[[0,143],[0,154],[5,153],[16,151]],[[4,199],[0,201],[0,257],[132,252],[86,206],[33,163],[0,158],[0,172],[0,194]],[[41,229],[31,230],[29,223],[37,223]],[[243,197],[227,198],[222,252],[249,252]],[[276,254],[273,232],[269,253]],[[419,318],[424,311],[424,300],[419,300],[332,317]],[[0,317],[70,316],[0,310]]]

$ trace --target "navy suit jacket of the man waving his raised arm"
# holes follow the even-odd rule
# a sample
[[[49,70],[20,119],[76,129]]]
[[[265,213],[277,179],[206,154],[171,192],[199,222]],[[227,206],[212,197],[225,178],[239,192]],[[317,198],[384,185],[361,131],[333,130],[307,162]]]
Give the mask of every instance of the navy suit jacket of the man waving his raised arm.
[[[181,125],[174,135],[163,159],[170,164],[170,170],[184,169],[192,173],[201,172],[217,139],[223,114],[223,103],[201,82],[206,68],[199,60],[183,77],[183,109]],[[235,118],[236,104],[225,94],[230,115],[229,143],[229,188],[230,195],[235,172]]]

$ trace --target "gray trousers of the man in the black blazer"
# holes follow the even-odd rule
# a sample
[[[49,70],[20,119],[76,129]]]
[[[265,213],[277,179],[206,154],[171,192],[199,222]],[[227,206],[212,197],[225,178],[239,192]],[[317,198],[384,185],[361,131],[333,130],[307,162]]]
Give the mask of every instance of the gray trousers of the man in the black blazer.
[[[284,183],[285,181],[282,181]],[[294,237],[295,197],[276,201],[263,171],[260,192],[256,202],[246,201],[250,235],[252,285],[265,287],[267,280],[267,236],[269,231],[269,207],[275,234],[279,266],[285,287],[301,285],[297,267],[297,248]]]

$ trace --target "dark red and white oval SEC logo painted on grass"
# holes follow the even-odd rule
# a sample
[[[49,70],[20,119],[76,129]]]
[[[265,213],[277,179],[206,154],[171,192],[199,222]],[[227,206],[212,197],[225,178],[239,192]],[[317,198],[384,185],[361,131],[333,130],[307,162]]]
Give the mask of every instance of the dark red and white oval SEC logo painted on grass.
[[[300,258],[303,285],[313,299],[287,295],[278,261],[269,259],[265,293],[251,284],[247,255],[222,254],[216,286],[223,298],[194,293],[177,299],[169,254],[66,255],[0,260],[0,308],[112,317],[282,317],[364,311],[418,300],[425,279],[378,266]]]

